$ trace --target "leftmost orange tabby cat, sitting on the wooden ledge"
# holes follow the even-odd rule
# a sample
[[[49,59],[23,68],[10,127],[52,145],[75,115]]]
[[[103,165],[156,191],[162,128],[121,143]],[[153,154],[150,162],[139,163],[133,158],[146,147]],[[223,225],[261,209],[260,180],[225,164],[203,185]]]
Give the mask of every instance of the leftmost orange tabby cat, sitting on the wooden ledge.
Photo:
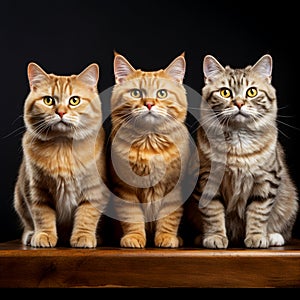
[[[54,247],[58,240],[72,247],[97,245],[106,202],[98,77],[97,64],[70,76],[28,65],[23,161],[14,199],[25,245]]]

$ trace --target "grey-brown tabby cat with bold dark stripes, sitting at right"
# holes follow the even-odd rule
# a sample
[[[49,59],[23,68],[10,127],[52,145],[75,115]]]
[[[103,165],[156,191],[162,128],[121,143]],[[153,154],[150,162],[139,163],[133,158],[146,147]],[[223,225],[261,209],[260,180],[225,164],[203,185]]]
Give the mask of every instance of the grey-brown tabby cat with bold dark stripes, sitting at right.
[[[195,242],[282,246],[292,235],[298,195],[278,141],[272,57],[233,69],[207,55],[203,71],[200,173],[186,206],[200,233]]]

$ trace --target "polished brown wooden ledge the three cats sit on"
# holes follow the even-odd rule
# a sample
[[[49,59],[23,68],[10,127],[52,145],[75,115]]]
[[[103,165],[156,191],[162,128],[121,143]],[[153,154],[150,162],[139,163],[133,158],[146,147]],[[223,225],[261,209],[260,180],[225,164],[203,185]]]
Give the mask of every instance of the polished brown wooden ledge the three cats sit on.
[[[0,243],[0,287],[300,287],[300,240],[270,249],[35,249]]]

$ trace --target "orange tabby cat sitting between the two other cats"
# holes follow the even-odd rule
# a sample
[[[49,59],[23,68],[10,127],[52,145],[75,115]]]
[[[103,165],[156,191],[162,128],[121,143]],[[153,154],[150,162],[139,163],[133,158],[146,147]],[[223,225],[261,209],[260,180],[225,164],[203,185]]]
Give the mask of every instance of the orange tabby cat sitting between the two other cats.
[[[166,69],[134,69],[115,53],[111,185],[122,247],[182,244],[182,175],[189,152],[184,55]]]

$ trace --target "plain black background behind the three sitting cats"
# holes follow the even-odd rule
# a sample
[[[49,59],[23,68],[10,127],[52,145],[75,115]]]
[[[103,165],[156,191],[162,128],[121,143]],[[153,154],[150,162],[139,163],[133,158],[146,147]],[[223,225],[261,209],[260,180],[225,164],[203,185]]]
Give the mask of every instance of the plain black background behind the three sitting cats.
[[[244,67],[269,53],[278,97],[279,138],[300,187],[299,16],[294,3],[1,1],[0,242],[21,235],[13,188],[22,153],[22,113],[31,61],[58,75],[78,74],[96,62],[102,92],[114,84],[114,50],[145,71],[166,67],[184,51],[184,83],[201,93],[206,54],[223,65]],[[298,217],[295,237],[300,237],[299,223]]]

